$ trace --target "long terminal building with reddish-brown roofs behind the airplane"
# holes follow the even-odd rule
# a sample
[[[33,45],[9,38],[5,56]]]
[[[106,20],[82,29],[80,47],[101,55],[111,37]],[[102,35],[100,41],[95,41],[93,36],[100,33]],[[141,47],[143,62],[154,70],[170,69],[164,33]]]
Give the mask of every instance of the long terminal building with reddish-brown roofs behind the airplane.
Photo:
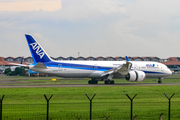
[[[180,72],[180,57],[169,57],[167,59],[160,59],[158,57],[130,57],[128,56],[130,61],[155,61],[155,62],[161,62],[165,65],[168,66],[168,68],[170,68],[173,72]],[[17,67],[13,64],[10,63],[20,63],[21,62],[22,57],[0,57],[0,73],[2,73],[6,68],[13,68],[13,67]],[[125,57],[112,57],[112,56],[108,56],[108,57],[82,57],[79,56],[77,58],[75,57],[51,57],[51,59],[53,60],[57,60],[57,61],[61,61],[61,60],[77,60],[77,61],[124,61],[126,58]],[[23,57],[23,64],[33,64],[33,59],[32,57]]]

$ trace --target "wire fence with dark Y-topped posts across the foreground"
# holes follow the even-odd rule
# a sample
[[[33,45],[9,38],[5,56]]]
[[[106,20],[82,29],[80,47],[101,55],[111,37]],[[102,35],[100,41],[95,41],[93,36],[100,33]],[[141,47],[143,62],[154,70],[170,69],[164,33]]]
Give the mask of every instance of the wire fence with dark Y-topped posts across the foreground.
[[[133,95],[132,95],[133,96]],[[138,96],[138,95],[137,95]],[[47,95],[49,99],[51,95]],[[91,96],[92,97],[92,96]],[[90,97],[90,98],[91,98]],[[98,95],[95,96],[95,98]],[[0,98],[2,98],[0,96]],[[69,97],[68,97],[69,98]],[[84,98],[82,100],[82,98]],[[61,102],[63,99],[63,102]],[[84,95],[78,99],[53,95],[48,102],[44,95],[19,95],[4,96],[2,100],[2,120],[89,120],[90,102]],[[81,99],[81,100],[80,100]],[[140,99],[140,98],[138,98]],[[169,102],[164,96],[164,101],[133,101],[133,118],[131,118],[131,101],[124,95],[122,99],[106,98],[92,100],[92,120],[168,120]],[[47,112],[48,109],[48,112]],[[0,111],[1,112],[1,111]],[[163,114],[162,114],[163,113]],[[48,116],[47,116],[48,114]],[[48,117],[48,118],[47,118]],[[171,102],[171,119],[180,119],[180,102]]]

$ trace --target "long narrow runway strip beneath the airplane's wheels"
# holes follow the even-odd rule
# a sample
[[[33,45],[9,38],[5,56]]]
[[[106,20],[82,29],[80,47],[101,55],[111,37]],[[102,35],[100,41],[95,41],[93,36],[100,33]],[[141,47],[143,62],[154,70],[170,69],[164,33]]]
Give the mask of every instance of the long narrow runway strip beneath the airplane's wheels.
[[[36,87],[104,87],[104,86],[173,86],[180,83],[115,83],[115,84],[46,84],[45,82],[32,82],[19,79],[0,79],[0,88],[36,88]]]

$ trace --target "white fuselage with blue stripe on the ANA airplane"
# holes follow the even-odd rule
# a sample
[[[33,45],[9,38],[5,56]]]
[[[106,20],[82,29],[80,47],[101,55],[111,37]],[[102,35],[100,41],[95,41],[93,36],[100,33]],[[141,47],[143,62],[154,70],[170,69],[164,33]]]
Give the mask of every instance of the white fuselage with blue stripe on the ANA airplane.
[[[110,69],[125,64],[126,61],[51,61],[45,62],[46,69],[30,69],[46,74],[69,78],[101,78],[101,75]],[[131,61],[131,71],[143,71],[146,78],[160,78],[171,75],[170,69],[158,62]],[[124,75],[115,73],[113,78],[122,78]]]

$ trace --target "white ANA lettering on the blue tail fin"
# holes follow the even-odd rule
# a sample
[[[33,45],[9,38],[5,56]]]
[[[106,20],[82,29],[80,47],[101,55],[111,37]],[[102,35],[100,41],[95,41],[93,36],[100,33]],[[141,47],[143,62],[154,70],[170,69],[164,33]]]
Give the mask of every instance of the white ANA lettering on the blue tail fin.
[[[40,59],[42,59],[43,56],[45,55],[45,53],[43,52],[41,47],[36,42],[35,43],[31,43],[30,45],[32,46],[33,50],[36,50],[36,54],[40,56]]]

